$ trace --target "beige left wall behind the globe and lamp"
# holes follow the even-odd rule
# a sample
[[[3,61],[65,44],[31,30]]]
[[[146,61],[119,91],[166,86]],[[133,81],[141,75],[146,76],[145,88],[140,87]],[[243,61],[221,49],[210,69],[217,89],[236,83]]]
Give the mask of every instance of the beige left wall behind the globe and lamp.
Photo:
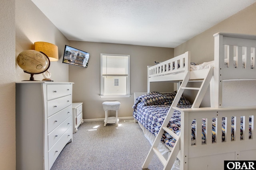
[[[16,0],[16,57],[24,50],[34,49],[34,42],[44,41],[58,46],[59,60],[50,63],[51,79],[54,82],[68,82],[68,66],[62,64],[64,47],[68,39],[46,18],[31,0]],[[16,64],[16,81],[29,80]],[[42,74],[35,74],[35,80],[42,80]]]

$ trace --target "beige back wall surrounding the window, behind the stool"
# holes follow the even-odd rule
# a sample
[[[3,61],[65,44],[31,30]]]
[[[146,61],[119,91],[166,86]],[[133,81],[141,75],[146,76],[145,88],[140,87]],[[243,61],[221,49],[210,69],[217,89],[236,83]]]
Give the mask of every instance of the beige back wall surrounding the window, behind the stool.
[[[83,102],[83,119],[104,118],[102,102],[118,100],[118,117],[132,117],[134,92],[147,92],[147,66],[154,61],[173,57],[172,48],[70,41],[70,46],[90,53],[87,68],[69,66],[69,81],[73,85],[73,102]],[[130,55],[130,98],[100,98],[100,53]],[[151,91],[166,92],[173,83],[151,84]]]

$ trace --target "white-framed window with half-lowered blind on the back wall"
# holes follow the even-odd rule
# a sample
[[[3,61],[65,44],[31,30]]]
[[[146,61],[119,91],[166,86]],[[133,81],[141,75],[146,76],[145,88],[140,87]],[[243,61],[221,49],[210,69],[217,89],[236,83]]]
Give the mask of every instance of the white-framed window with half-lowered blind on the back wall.
[[[130,55],[100,54],[100,97],[130,97]]]

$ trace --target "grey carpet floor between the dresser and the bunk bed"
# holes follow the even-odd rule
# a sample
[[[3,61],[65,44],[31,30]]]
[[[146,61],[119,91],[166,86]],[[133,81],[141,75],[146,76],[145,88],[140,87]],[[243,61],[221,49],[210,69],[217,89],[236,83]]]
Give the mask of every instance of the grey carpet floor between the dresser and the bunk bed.
[[[141,170],[150,147],[138,123],[120,120],[118,126],[104,127],[104,121],[84,122],[51,170]],[[154,155],[146,170],[162,168]]]

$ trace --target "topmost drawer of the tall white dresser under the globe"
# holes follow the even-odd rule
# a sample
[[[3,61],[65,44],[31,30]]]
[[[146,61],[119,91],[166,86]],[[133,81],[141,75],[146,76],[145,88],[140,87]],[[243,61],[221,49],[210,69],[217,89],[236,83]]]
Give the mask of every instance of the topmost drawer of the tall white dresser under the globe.
[[[48,84],[47,100],[52,100],[72,93],[71,84]]]

